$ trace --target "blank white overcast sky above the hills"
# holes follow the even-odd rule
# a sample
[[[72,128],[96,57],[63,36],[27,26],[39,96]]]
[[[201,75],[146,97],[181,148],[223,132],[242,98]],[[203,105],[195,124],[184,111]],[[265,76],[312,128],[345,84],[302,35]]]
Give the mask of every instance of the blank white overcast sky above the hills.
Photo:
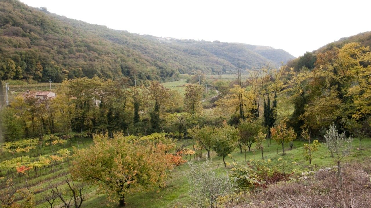
[[[301,56],[371,30],[369,0],[21,0],[131,33],[272,46]]]

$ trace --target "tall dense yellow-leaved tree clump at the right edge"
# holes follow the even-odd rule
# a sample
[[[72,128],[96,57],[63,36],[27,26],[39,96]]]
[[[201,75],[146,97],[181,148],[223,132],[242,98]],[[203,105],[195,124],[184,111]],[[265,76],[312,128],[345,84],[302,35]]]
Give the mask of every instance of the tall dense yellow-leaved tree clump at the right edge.
[[[332,122],[346,124],[370,117],[370,48],[348,43],[316,57],[307,86],[310,99],[301,116],[304,127],[318,131]]]

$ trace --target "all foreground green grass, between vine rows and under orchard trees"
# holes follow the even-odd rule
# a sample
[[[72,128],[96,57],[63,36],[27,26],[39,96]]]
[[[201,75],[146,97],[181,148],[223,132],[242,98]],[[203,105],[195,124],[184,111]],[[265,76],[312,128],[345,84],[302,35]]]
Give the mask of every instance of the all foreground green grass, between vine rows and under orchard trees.
[[[179,143],[185,144],[188,147],[191,147],[191,140],[181,140],[178,141]],[[60,148],[68,148],[72,150],[72,146],[85,148],[88,145],[92,144],[92,140],[90,138],[72,138],[65,147],[61,147],[59,145],[54,147],[54,151],[58,151]],[[293,149],[290,150],[289,145],[285,145],[285,155],[282,155],[282,148],[281,145],[276,144],[276,142],[272,141],[269,144],[269,140],[264,145],[264,157],[266,160],[271,160],[271,165],[279,165],[280,162],[278,161],[279,158],[283,158],[283,161],[287,161],[285,165],[285,171],[289,172],[293,169],[301,169],[306,170],[308,168],[322,168],[322,167],[332,167],[335,164],[334,159],[330,157],[330,152],[327,150],[325,145],[322,145],[319,148],[318,152],[314,152],[314,159],[312,167],[309,167],[309,162],[305,161],[303,157],[303,141],[295,140]],[[356,150],[359,147],[359,140],[355,139],[353,142],[353,150],[351,154],[344,158],[343,163],[356,161],[362,162],[365,158],[370,158],[371,156],[371,139],[367,138],[362,140],[362,150]],[[251,152],[246,152],[246,161],[249,160],[260,160],[261,154],[260,151],[255,152],[255,145],[253,144]],[[51,155],[52,151],[50,147],[42,147],[40,150],[33,150],[25,155],[29,155],[31,158],[37,158],[38,155]],[[245,154],[240,153],[239,149],[236,147],[234,152],[232,153],[234,159],[241,164],[246,164],[245,162]],[[0,162],[4,160],[9,160],[13,157],[20,157],[19,153],[12,155],[10,153],[1,153]],[[185,159],[185,158],[184,158]],[[187,158],[189,160],[189,156]],[[192,159],[193,160],[193,155]],[[196,159],[197,160],[197,159]],[[200,161],[203,162],[206,160],[206,151],[203,151],[203,157],[200,158]],[[221,157],[217,157],[215,152],[211,152],[211,160],[214,165],[214,170],[217,172],[226,172],[230,171],[231,165],[227,165],[225,168],[223,165],[223,161]],[[231,163],[232,159],[227,157],[227,163]],[[294,163],[293,163],[294,162]],[[49,204],[45,202],[43,195],[50,192],[47,185],[49,182],[53,184],[62,184],[63,175],[68,173],[69,164],[67,160],[63,162],[58,162],[54,165],[49,165],[44,168],[40,168],[37,172],[37,176],[33,170],[30,170],[27,176],[27,182],[31,191],[35,192],[35,201],[38,208],[46,208],[49,207]],[[154,207],[154,208],[170,208],[170,207],[182,207],[183,205],[188,205],[191,202],[191,197],[188,194],[188,184],[187,178],[185,175],[188,173],[189,167],[187,163],[184,163],[178,167],[175,167],[172,170],[170,177],[166,182],[166,187],[159,190],[158,188],[154,188],[150,191],[146,192],[139,192],[128,195],[127,199],[127,207],[134,208],[134,207]],[[1,170],[3,177],[0,179],[0,187],[3,188],[6,183],[6,170]],[[13,171],[14,172],[14,171]],[[14,172],[13,175],[13,182],[17,187],[25,187],[24,182],[24,175],[17,174]],[[66,188],[66,185],[61,185],[60,188]],[[105,194],[101,194],[97,191],[95,186],[88,187],[85,191],[85,198],[86,201],[83,202],[82,207],[84,208],[93,208],[93,207],[117,207],[118,204],[111,203],[108,201],[108,196]]]

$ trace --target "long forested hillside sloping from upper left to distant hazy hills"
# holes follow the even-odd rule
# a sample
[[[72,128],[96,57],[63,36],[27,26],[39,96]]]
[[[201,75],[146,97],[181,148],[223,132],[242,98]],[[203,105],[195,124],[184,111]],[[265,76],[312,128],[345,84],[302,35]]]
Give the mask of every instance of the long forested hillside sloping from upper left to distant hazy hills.
[[[277,66],[293,58],[282,50],[267,52],[243,44],[196,42],[164,44],[155,38],[51,14],[46,8],[28,7],[15,0],[0,1],[2,80],[60,82],[97,75],[127,76],[139,82],[164,81],[198,70],[221,74],[235,67],[237,61],[251,68]]]

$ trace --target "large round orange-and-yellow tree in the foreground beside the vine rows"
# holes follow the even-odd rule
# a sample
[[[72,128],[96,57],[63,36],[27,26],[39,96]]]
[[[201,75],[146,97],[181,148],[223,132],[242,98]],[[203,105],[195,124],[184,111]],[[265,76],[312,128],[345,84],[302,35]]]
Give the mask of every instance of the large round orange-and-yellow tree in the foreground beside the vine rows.
[[[108,138],[102,133],[95,134],[93,141],[90,147],[76,150],[72,175],[117,196],[120,206],[125,206],[128,193],[162,186],[174,166],[174,155],[169,153],[174,143],[164,134],[136,138],[115,132]]]

